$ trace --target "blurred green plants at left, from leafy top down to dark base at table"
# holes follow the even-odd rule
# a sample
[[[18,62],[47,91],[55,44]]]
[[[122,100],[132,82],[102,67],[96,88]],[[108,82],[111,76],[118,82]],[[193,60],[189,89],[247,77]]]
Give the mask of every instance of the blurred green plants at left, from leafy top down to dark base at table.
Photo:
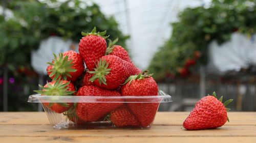
[[[0,1],[0,6],[4,1]],[[31,51],[37,49],[41,40],[55,35],[63,39],[79,42],[81,31],[91,32],[94,26],[97,31],[105,31],[110,39],[119,38],[117,44],[125,47],[125,36],[118,29],[118,23],[112,16],[106,16],[96,4],[86,2],[36,0],[9,0],[6,7],[13,17],[0,14],[0,78],[4,68],[9,69],[8,110],[37,110],[37,104],[28,104],[27,98],[38,88],[38,76],[31,68]],[[108,41],[107,41],[108,42]],[[49,59],[50,60],[50,59]],[[45,77],[46,78],[46,77]],[[0,86],[3,93],[3,86]],[[3,107],[3,96],[0,96],[0,110]]]

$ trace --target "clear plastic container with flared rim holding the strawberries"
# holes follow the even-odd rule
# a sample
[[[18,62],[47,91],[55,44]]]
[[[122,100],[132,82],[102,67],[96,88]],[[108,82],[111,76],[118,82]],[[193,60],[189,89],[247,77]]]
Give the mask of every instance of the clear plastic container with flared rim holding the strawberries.
[[[158,96],[41,96],[28,102],[41,103],[54,129],[141,128],[148,129],[160,103],[172,97]]]

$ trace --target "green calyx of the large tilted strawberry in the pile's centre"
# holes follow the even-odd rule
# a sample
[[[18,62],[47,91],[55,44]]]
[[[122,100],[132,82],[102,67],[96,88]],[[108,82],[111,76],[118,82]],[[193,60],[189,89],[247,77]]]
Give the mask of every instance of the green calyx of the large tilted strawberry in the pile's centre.
[[[100,85],[101,83],[106,85],[105,76],[108,75],[111,71],[111,69],[109,69],[108,67],[109,67],[109,63],[107,63],[106,60],[99,59],[99,61],[96,64],[96,68],[94,68],[94,71],[89,71],[89,73],[94,74],[89,79],[89,81],[93,82],[96,79],[98,79]]]

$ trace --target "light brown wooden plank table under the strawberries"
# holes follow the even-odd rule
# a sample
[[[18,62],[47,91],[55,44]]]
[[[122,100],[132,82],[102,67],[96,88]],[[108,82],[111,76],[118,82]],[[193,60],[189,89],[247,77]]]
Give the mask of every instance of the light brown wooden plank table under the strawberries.
[[[0,142],[256,142],[256,112],[229,112],[230,123],[187,131],[189,112],[158,112],[149,130],[54,130],[44,112],[0,112]]]

